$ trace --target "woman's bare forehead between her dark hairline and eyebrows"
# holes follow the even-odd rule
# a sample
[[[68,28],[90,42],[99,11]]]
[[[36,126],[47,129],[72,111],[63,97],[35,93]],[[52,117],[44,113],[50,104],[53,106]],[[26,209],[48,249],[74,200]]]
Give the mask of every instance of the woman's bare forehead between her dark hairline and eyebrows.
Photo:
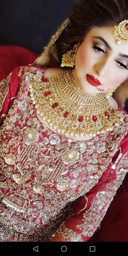
[[[85,40],[86,39],[92,39],[95,40],[93,37],[103,37],[103,39],[110,44],[110,47],[112,49],[116,49],[119,50],[119,52],[121,53],[127,53],[128,54],[128,42],[127,43],[120,43],[117,44],[116,43],[116,39],[113,36],[113,26],[106,26],[106,27],[93,27],[92,29],[90,29],[87,33],[87,35],[85,36]],[[100,41],[98,39],[98,41]],[[103,43],[103,42],[101,42]]]

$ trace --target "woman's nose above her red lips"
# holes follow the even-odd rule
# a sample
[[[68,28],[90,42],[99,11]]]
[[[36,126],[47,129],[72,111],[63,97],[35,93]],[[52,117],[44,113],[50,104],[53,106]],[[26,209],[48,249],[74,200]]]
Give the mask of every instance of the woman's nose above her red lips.
[[[95,63],[94,65],[94,72],[96,74],[95,79],[99,78],[99,76],[106,76],[108,74],[109,69],[111,67],[110,64],[111,60],[100,60],[99,62]]]

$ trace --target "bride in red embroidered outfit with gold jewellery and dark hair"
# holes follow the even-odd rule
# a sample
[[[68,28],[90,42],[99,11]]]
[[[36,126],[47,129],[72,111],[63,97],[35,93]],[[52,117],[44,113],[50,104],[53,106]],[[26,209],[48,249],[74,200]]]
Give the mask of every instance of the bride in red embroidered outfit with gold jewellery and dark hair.
[[[93,8],[92,8],[93,7]],[[127,1],[86,1],[0,84],[0,240],[88,241],[127,172]],[[114,10],[114,12],[112,12]]]

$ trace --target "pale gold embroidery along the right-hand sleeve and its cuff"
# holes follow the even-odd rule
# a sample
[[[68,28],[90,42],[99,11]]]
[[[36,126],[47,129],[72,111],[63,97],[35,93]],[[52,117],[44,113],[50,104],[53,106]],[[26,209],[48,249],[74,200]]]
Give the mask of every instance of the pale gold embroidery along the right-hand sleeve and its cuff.
[[[88,237],[93,235],[95,230],[100,225],[100,222],[105,216],[113,197],[116,195],[117,189],[124,180],[126,172],[128,171],[127,157],[128,152],[123,156],[117,167],[117,179],[111,183],[107,183],[106,189],[103,191],[98,191],[96,199],[94,199],[91,203],[91,207],[83,214],[82,223],[76,226],[76,228],[79,229],[79,232],[87,237],[86,240],[88,240]],[[67,241],[85,241],[81,237],[81,234],[74,232],[65,225],[62,225],[57,233],[61,233],[63,238],[65,238]]]

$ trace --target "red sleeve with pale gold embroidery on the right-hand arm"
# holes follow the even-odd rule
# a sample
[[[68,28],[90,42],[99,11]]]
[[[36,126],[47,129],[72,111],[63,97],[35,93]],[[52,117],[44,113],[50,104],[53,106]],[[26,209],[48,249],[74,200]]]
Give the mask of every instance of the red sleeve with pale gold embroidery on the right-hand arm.
[[[95,187],[78,199],[74,213],[62,223],[52,241],[88,241],[100,225],[128,171],[128,136]]]

